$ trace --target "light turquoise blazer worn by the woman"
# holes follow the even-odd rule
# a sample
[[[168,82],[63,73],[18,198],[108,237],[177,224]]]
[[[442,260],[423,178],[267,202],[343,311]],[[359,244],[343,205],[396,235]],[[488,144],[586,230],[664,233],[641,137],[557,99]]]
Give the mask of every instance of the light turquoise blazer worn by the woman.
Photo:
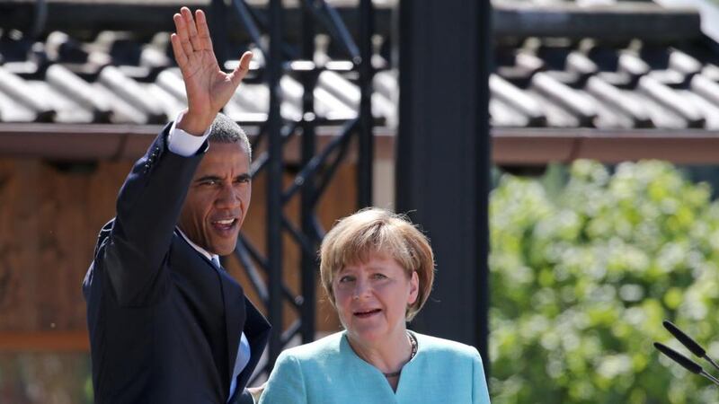
[[[280,354],[260,404],[489,404],[475,347],[418,333],[397,391],[350,347],[345,332]]]

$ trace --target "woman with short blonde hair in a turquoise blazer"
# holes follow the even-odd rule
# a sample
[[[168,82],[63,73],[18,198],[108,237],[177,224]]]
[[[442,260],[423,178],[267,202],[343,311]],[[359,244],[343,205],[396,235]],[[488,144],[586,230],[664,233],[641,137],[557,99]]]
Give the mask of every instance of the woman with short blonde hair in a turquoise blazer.
[[[344,330],[280,355],[260,403],[489,403],[475,347],[406,329],[430,294],[427,238],[400,215],[345,217],[320,249]]]

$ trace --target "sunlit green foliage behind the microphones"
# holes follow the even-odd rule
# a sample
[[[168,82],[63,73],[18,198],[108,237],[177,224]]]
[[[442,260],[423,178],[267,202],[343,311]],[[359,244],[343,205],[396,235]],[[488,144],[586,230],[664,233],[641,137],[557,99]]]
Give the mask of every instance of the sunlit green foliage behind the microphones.
[[[652,347],[689,356],[662,328],[669,319],[719,358],[710,189],[665,162],[613,174],[574,162],[564,188],[552,185],[503,175],[493,190],[493,403],[719,402]]]

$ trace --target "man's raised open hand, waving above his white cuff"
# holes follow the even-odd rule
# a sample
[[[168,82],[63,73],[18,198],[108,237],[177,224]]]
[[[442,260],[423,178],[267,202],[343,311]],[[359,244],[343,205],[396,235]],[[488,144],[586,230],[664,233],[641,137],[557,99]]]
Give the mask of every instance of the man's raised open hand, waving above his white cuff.
[[[250,70],[252,52],[244,52],[240,63],[231,73],[217,65],[212,50],[205,13],[182,7],[173,15],[176,33],[170,36],[174,58],[182,71],[187,92],[187,113],[178,127],[192,135],[201,135],[225,106]]]

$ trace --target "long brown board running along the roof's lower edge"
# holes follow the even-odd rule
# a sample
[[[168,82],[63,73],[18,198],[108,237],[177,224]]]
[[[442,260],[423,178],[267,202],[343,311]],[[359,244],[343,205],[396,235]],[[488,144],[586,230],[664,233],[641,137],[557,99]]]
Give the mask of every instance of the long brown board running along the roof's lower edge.
[[[65,162],[134,161],[160,130],[158,125],[61,125],[0,123],[0,156],[44,158]],[[256,136],[257,127],[245,127]],[[325,145],[336,127],[318,127],[318,145]],[[376,154],[394,159],[395,129],[376,127]],[[600,162],[661,159],[680,164],[719,162],[719,130],[627,129],[557,127],[493,127],[492,154],[496,164],[540,165],[578,158]],[[285,153],[299,159],[299,141],[292,139]]]

